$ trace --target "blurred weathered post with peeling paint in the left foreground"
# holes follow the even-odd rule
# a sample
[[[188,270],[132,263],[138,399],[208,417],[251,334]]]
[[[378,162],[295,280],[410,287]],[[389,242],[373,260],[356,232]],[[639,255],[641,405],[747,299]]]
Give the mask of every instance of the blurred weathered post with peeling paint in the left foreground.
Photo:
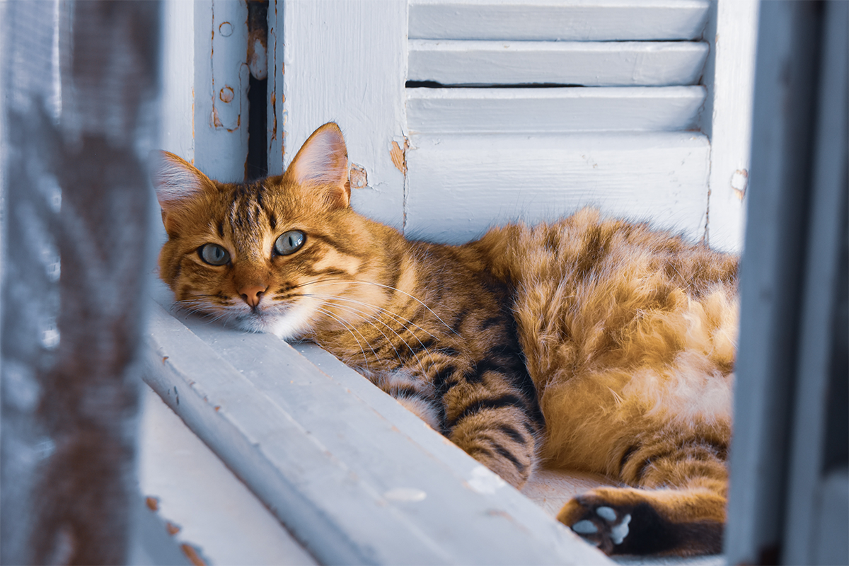
[[[4,9],[0,562],[123,563],[160,3]]]

